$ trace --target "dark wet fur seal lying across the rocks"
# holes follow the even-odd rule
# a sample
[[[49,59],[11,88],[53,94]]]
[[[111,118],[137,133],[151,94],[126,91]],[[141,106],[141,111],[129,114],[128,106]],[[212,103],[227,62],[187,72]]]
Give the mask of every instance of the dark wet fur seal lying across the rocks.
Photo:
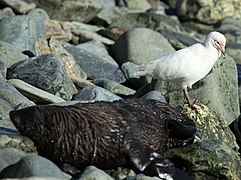
[[[174,165],[162,154],[192,143],[196,132],[191,119],[155,100],[37,105],[11,111],[10,118],[40,155],[70,174],[88,165],[122,166],[165,178]]]

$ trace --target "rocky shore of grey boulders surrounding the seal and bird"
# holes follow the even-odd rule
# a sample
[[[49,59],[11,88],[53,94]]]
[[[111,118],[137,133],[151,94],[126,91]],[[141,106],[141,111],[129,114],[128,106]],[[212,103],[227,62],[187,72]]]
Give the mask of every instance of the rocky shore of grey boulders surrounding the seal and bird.
[[[1,177],[71,179],[38,156],[30,139],[11,135],[9,129],[16,130],[11,110],[131,96],[143,83],[133,77],[138,64],[217,30],[227,38],[226,56],[190,91],[206,106],[183,110],[200,127],[197,142],[166,156],[188,162],[195,179],[241,179],[238,147],[228,129],[240,114],[241,0],[0,0],[0,8]],[[175,85],[153,85],[154,91],[140,98],[183,106]],[[129,169],[104,172],[94,166],[76,177],[92,178],[152,179]]]

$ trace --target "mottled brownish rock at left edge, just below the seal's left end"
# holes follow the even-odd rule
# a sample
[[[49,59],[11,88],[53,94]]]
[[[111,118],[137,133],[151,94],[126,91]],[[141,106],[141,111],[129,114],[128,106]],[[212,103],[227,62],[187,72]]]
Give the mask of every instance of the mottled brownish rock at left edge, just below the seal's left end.
[[[0,148],[5,147],[16,148],[31,154],[37,153],[33,141],[20,135],[0,135]]]

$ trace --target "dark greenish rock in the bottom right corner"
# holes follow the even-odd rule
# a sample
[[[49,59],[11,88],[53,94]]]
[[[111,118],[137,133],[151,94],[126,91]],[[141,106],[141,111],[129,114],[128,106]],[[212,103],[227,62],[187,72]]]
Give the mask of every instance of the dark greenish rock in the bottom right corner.
[[[208,139],[166,152],[176,158],[194,179],[240,179],[241,162],[237,152],[222,140]]]

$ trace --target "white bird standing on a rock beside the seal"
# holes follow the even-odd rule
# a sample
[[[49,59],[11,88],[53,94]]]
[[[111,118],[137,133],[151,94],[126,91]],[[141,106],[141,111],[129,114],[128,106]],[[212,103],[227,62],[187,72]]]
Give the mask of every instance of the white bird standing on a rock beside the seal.
[[[187,88],[204,78],[221,54],[225,55],[226,38],[220,32],[210,32],[203,43],[169,53],[160,59],[139,66],[136,77],[147,76],[177,84],[183,89],[189,105]]]

